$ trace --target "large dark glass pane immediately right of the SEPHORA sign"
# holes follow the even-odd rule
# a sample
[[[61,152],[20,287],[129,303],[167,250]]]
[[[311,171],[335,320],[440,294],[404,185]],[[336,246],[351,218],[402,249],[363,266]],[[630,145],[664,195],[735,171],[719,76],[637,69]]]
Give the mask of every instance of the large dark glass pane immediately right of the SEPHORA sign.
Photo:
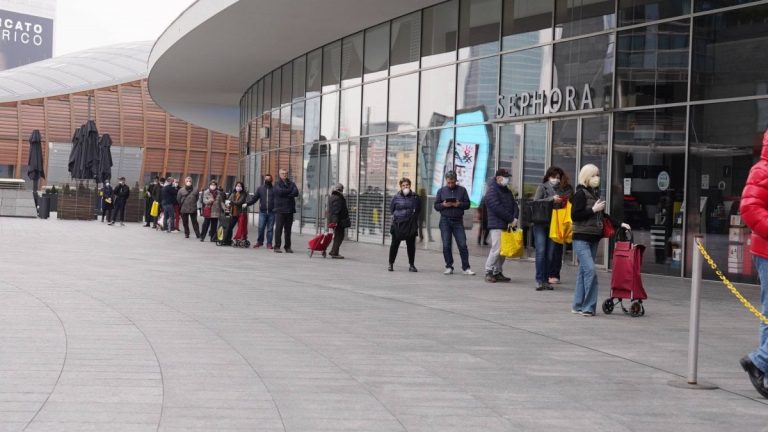
[[[689,21],[619,32],[617,105],[684,102],[688,98]]]

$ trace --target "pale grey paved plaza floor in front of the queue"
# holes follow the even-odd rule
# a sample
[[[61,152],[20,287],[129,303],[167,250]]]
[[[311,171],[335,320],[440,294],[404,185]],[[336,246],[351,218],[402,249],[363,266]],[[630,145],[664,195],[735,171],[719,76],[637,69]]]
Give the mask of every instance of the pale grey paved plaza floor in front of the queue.
[[[138,224],[0,219],[0,431],[768,431],[738,360],[757,320],[645,276],[646,316],[570,313],[574,269],[533,289],[442,275],[442,255],[346,260],[217,247]],[[294,249],[304,251],[306,238]],[[458,254],[457,254],[458,258]],[[600,299],[608,293],[601,274]],[[759,289],[741,287],[755,301]]]

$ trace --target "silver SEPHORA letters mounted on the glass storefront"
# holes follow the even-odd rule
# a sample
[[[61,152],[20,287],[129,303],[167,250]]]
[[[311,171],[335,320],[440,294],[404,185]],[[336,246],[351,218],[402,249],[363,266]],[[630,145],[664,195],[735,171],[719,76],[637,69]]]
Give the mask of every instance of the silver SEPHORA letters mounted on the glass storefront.
[[[573,86],[564,89],[523,92],[512,96],[499,95],[496,100],[496,118],[523,117],[536,114],[594,109],[592,88],[584,84],[581,91]]]

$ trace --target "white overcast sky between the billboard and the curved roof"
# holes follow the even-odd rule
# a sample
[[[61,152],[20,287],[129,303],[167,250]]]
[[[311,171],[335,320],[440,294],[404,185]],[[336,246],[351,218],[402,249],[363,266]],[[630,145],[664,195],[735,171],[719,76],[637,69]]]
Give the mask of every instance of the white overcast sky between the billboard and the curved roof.
[[[155,40],[194,0],[58,0],[54,56]]]

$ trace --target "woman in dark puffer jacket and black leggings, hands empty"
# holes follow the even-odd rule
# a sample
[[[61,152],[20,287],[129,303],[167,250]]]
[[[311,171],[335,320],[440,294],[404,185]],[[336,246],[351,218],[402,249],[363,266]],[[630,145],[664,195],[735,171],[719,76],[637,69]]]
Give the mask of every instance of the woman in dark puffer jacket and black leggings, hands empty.
[[[408,252],[408,271],[417,272],[416,261],[416,236],[418,235],[419,213],[421,212],[421,200],[411,189],[411,180],[403,177],[400,179],[400,191],[398,191],[389,204],[392,215],[392,244],[389,246],[389,271],[395,270],[395,259],[400,243],[405,241]]]

